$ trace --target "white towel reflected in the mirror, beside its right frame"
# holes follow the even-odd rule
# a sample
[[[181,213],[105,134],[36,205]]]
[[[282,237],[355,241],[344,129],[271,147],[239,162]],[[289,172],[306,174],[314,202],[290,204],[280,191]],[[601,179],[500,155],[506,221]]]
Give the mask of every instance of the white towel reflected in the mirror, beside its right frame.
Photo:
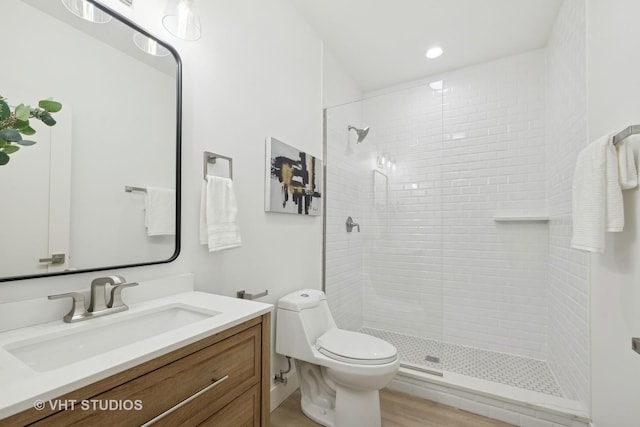
[[[144,203],[144,225],[148,236],[176,234],[175,190],[147,187]]]

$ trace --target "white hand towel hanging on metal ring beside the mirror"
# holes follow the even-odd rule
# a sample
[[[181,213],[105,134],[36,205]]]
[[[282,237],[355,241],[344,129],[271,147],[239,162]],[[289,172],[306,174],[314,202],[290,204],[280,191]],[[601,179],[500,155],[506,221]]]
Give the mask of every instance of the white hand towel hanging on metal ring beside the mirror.
[[[200,201],[200,244],[208,245],[209,252],[241,246],[237,216],[233,181],[208,175]]]

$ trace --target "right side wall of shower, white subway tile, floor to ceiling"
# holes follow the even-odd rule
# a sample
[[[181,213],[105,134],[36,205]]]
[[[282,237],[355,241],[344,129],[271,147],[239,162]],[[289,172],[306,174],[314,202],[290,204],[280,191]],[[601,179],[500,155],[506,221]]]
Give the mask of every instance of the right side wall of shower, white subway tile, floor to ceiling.
[[[571,183],[587,138],[585,21],[585,2],[565,0],[547,47],[548,361],[567,397],[588,406],[588,255],[570,249]]]

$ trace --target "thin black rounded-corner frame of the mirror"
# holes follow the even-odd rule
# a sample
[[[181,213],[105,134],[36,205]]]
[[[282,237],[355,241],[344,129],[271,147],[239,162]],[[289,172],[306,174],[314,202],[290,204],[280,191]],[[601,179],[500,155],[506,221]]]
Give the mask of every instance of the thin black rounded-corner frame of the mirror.
[[[118,12],[114,11],[113,9],[111,9],[111,8],[101,4],[101,3],[98,3],[97,0],[86,0],[86,1],[91,3],[91,4],[93,4],[95,7],[97,7],[101,11],[109,14],[113,18],[119,20],[123,24],[127,25],[129,28],[133,29],[134,31],[137,31],[137,32],[149,37],[150,39],[155,40],[158,44],[160,44],[162,47],[166,48],[169,52],[171,52],[171,54],[173,55],[174,59],[176,60],[176,151],[175,151],[175,155],[176,155],[176,171],[175,171],[175,173],[176,173],[176,190],[175,190],[176,191],[176,233],[175,233],[175,250],[174,250],[173,254],[166,260],[149,261],[149,262],[137,262],[137,263],[133,263],[133,264],[109,265],[109,266],[104,266],[104,267],[84,268],[84,269],[78,269],[78,270],[59,271],[59,272],[53,272],[53,273],[40,273],[40,274],[28,274],[28,275],[21,275],[21,276],[0,277],[0,283],[1,282],[10,282],[10,281],[15,281],[15,280],[39,279],[39,278],[45,278],[45,277],[66,276],[66,275],[70,275],[70,274],[90,273],[90,272],[93,272],[93,271],[116,270],[116,269],[131,268],[131,267],[144,267],[144,266],[156,265],[156,264],[168,264],[170,262],[175,261],[178,258],[178,255],[180,255],[180,240],[181,240],[180,239],[180,236],[181,236],[181,230],[180,230],[181,206],[180,206],[180,201],[181,201],[181,175],[182,175],[182,173],[181,173],[181,171],[182,171],[182,167],[181,167],[181,165],[182,165],[182,59],[180,58],[180,55],[178,54],[178,51],[173,46],[170,46],[169,44],[165,43],[164,41],[159,40],[158,38],[156,38],[155,36],[150,34],[148,31],[146,31],[143,28],[139,27],[137,24],[135,24],[130,19],[124,17],[123,15],[121,15]]]

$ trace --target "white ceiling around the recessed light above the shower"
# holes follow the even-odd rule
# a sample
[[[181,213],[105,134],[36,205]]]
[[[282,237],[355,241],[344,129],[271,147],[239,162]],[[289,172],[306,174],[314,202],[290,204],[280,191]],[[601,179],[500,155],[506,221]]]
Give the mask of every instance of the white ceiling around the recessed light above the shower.
[[[291,0],[364,92],[544,47],[563,0]],[[440,45],[444,54],[425,58]]]

